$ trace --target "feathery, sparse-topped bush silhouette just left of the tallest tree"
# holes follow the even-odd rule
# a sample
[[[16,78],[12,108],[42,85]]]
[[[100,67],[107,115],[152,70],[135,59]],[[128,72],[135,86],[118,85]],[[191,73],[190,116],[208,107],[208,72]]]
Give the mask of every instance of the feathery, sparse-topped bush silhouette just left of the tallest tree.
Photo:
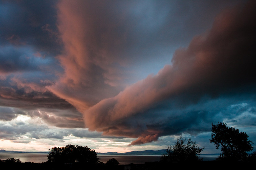
[[[198,156],[203,150],[204,148],[198,147],[195,141],[180,136],[174,146],[168,145],[167,153],[161,157],[161,162],[198,161],[201,160]]]

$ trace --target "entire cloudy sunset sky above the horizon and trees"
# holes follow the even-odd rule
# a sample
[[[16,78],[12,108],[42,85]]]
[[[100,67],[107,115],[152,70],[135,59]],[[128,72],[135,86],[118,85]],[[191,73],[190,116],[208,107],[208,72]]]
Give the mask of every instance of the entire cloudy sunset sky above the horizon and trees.
[[[0,1],[0,149],[256,149],[256,1]]]

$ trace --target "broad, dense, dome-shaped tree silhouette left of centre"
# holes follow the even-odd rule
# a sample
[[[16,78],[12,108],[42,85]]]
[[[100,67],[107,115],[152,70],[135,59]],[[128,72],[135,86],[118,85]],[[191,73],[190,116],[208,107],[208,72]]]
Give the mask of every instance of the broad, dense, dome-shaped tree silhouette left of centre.
[[[87,146],[66,145],[65,147],[53,147],[49,149],[48,163],[80,163],[97,164],[97,153]]]

